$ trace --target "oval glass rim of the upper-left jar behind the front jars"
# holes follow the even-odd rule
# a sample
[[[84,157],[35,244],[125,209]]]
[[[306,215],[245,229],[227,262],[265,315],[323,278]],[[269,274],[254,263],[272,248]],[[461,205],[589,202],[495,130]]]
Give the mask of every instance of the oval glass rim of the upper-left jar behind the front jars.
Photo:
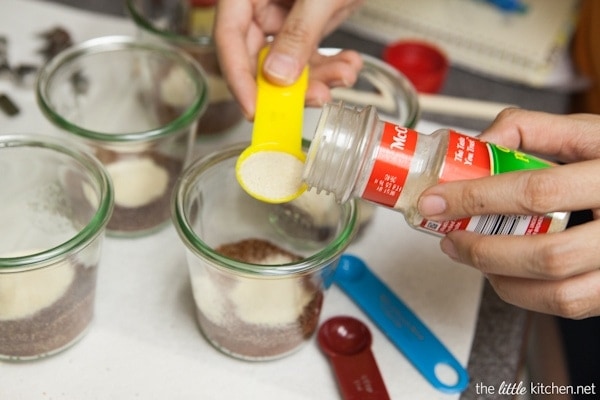
[[[130,132],[130,133],[104,133],[96,130],[86,129],[62,117],[57,113],[49,101],[48,89],[50,82],[56,72],[65,64],[73,62],[82,57],[92,54],[109,53],[125,50],[147,52],[149,54],[161,54],[174,60],[181,68],[192,77],[198,96],[190,103],[185,111],[177,118],[158,128]],[[199,77],[200,79],[196,79]],[[75,133],[86,139],[98,140],[109,143],[143,142],[170,135],[191,124],[202,115],[208,106],[208,78],[200,64],[183,50],[172,46],[148,43],[130,36],[102,36],[86,40],[78,45],[63,50],[46,63],[38,74],[36,84],[37,103],[42,112],[50,121],[61,129]]]

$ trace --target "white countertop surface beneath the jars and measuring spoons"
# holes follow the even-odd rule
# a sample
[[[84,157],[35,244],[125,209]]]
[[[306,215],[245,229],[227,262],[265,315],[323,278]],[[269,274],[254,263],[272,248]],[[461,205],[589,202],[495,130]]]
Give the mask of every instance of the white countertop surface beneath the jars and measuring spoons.
[[[0,2],[0,35],[11,59],[35,60],[35,32],[63,25],[76,41],[134,33],[133,23],[61,6],[23,0]],[[20,42],[23,42],[21,45]],[[21,108],[0,113],[0,134],[54,134],[31,89],[0,81]],[[310,118],[314,114],[309,113]],[[313,121],[313,120],[311,120]],[[306,127],[310,131],[311,121]],[[314,122],[314,121],[313,121]],[[430,132],[436,124],[421,121]],[[206,154],[224,142],[249,139],[243,123],[197,142]],[[436,237],[407,226],[401,214],[377,208],[348,253],[363,258],[466,365],[483,280],[441,253]],[[327,293],[322,320],[352,315],[372,329],[373,353],[393,399],[458,399],[432,388],[404,356],[337,288]],[[195,319],[184,248],[175,230],[140,239],[107,238],[99,269],[96,317],[74,347],[48,359],[0,362],[0,399],[337,399],[332,371],[312,340],[277,361],[244,362],[223,355],[201,336]]]

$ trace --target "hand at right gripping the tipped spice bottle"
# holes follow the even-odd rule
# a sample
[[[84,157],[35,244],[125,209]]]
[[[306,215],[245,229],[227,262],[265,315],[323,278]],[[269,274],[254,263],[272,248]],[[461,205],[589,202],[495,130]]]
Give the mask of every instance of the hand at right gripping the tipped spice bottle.
[[[442,251],[482,271],[508,303],[574,319],[600,315],[600,116],[507,109],[481,139],[568,164],[435,185],[419,200],[425,218],[591,209],[593,220],[533,236],[455,231]]]

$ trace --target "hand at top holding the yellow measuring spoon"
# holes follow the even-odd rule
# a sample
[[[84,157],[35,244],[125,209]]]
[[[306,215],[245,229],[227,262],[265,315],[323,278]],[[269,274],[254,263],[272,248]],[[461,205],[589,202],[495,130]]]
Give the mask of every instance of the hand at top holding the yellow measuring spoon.
[[[311,65],[306,104],[329,101],[330,87],[351,86],[362,67],[360,55],[345,50],[334,56],[317,53],[331,33],[363,0],[219,0],[214,37],[221,69],[247,119],[256,101],[259,50],[274,36],[264,62],[272,83],[290,85]]]

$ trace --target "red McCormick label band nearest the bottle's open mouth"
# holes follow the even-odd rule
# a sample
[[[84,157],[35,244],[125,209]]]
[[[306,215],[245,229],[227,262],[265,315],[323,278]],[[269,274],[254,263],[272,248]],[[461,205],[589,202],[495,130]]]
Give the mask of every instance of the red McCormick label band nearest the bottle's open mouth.
[[[404,188],[417,146],[417,132],[384,123],[383,135],[362,198],[394,207]]]

